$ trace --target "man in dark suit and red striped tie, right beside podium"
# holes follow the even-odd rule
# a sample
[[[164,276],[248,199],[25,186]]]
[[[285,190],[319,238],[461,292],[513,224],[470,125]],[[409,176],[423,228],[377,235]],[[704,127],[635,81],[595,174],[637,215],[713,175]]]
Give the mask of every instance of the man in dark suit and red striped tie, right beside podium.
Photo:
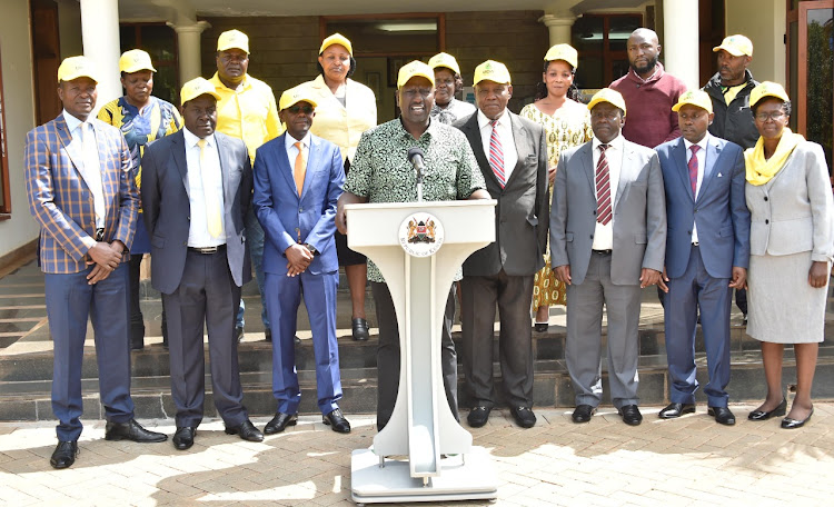
[[[533,277],[547,242],[547,146],[544,129],[507,109],[509,71],[487,60],[475,69],[478,111],[455,123],[469,140],[487,190],[498,201],[495,242],[464,262],[464,371],[474,398],[467,420],[484,426],[495,406],[493,336],[500,318],[499,360],[510,414],[523,428],[533,414]]]

